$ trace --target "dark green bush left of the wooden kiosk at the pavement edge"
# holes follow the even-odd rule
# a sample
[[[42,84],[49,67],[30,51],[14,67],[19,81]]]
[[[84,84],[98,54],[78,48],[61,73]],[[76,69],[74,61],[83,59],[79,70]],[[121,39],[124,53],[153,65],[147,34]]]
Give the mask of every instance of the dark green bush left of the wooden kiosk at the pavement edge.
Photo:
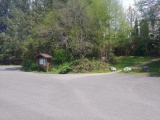
[[[36,71],[38,70],[38,65],[32,60],[25,60],[22,63],[22,70],[24,71]]]

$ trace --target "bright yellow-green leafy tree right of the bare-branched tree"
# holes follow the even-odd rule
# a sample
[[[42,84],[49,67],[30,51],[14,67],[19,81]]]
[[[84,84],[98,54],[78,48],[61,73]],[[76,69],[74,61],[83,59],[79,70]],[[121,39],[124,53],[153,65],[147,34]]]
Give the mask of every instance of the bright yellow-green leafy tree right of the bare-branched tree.
[[[101,55],[109,56],[115,45],[128,36],[128,23],[118,0],[92,0],[91,8],[95,47]]]

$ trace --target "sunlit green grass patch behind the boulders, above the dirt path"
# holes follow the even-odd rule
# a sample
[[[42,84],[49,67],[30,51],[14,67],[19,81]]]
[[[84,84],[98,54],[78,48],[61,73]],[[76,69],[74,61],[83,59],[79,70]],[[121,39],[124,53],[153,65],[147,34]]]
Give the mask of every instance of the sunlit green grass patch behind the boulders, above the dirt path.
[[[136,64],[147,62],[152,60],[152,57],[139,57],[139,56],[120,56],[117,57],[118,63],[113,66],[118,70],[122,70],[124,67],[131,67]]]

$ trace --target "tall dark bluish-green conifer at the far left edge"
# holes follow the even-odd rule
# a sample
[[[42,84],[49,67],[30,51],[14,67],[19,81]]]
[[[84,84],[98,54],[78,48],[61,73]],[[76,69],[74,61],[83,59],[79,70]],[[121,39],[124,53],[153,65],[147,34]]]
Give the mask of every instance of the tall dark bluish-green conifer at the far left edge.
[[[23,0],[10,0],[4,5],[7,9],[1,17],[3,25],[3,59],[6,64],[19,64],[23,58],[23,43],[30,34],[28,18],[29,3]]]

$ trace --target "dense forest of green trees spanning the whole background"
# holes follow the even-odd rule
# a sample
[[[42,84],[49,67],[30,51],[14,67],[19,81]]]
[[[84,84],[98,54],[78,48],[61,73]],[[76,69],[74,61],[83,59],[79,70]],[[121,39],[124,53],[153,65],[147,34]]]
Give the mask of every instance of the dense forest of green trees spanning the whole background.
[[[0,0],[0,64],[160,54],[160,0]]]

